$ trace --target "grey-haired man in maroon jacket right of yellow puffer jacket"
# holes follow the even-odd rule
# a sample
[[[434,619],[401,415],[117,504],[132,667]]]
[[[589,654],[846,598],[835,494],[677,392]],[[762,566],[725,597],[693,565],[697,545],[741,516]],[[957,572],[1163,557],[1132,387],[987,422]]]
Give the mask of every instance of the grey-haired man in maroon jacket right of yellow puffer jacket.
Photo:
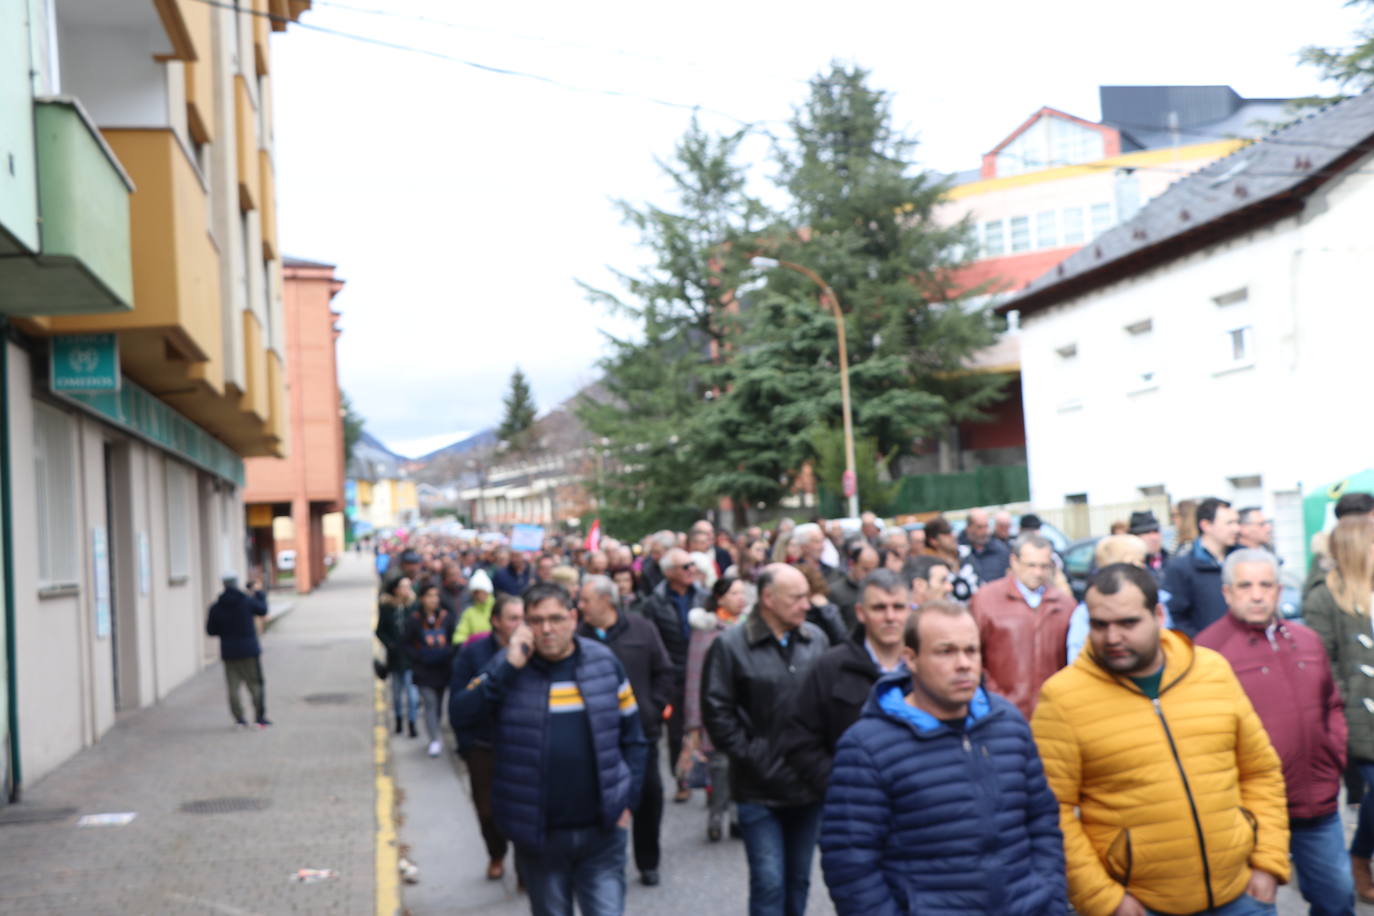
[[[1345,713],[1316,633],[1278,617],[1279,564],[1259,548],[1221,566],[1228,614],[1197,636],[1235,669],[1283,761],[1293,871],[1314,913],[1353,913],[1338,795]]]

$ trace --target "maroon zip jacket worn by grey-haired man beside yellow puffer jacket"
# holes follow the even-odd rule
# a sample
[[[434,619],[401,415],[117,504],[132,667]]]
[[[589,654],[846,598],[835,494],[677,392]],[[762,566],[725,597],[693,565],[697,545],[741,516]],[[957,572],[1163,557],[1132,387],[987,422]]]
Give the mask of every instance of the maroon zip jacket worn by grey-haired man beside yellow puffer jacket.
[[[1345,769],[1345,711],[1320,637],[1279,621],[1274,641],[1263,626],[1227,614],[1195,643],[1226,656],[1283,761],[1289,817],[1336,810]]]

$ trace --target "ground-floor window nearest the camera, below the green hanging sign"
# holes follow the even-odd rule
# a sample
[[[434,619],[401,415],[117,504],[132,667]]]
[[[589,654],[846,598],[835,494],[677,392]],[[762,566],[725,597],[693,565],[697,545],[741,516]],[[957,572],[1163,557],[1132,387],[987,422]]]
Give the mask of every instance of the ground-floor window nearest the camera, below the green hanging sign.
[[[33,471],[38,503],[38,586],[76,585],[81,559],[76,439],[71,417],[45,404],[33,405]]]

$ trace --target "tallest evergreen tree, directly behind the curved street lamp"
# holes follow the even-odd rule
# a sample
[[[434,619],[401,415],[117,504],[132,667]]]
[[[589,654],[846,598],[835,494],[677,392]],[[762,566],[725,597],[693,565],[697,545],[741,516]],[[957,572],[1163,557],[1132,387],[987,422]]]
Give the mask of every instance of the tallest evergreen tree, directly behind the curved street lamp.
[[[912,169],[915,141],[892,128],[888,96],[867,85],[866,71],[835,65],[813,78],[791,126],[796,146],[779,154],[786,228],[760,250],[811,268],[834,290],[856,439],[894,467],[918,438],[978,419],[1006,382],[965,371],[996,336],[993,316],[967,301],[985,290],[952,280],[967,262],[970,229],[936,221],[947,185]],[[745,346],[717,378],[725,394],[699,431],[703,464],[719,468],[702,488],[753,485],[772,501],[815,455],[812,427],[840,427],[838,342],[805,276],[774,269],[756,299]]]

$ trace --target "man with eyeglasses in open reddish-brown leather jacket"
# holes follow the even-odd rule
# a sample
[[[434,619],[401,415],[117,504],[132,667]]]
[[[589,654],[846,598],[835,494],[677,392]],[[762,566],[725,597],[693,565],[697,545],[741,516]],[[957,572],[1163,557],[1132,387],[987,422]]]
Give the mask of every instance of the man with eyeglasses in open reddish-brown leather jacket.
[[[1028,720],[1040,685],[1069,661],[1065,637],[1074,604],[1052,577],[1054,547],[1039,534],[1022,534],[1011,545],[1011,571],[969,600],[978,621],[984,685]]]

